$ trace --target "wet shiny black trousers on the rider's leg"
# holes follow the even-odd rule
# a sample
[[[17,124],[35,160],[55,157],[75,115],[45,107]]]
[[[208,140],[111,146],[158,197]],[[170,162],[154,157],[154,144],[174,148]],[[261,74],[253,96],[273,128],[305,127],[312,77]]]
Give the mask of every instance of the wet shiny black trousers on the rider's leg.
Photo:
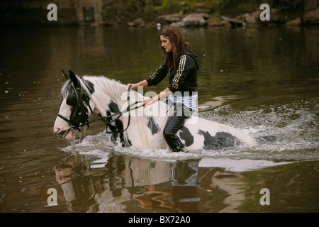
[[[167,119],[167,123],[163,131],[164,139],[172,152],[184,151],[185,145],[184,143],[181,143],[181,140],[177,136],[177,131],[183,128],[186,119],[190,116],[188,111],[187,114],[185,114],[184,110],[179,112],[177,109],[177,106],[174,106],[174,112],[172,116],[169,116]]]

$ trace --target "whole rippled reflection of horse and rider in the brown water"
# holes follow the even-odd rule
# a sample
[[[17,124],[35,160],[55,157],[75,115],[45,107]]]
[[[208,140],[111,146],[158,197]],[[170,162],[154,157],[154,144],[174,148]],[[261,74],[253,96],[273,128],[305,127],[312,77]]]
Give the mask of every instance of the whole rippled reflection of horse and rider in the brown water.
[[[94,167],[82,158],[70,155],[55,166],[72,212],[236,212],[247,202],[243,175],[199,168],[199,160],[115,156]]]

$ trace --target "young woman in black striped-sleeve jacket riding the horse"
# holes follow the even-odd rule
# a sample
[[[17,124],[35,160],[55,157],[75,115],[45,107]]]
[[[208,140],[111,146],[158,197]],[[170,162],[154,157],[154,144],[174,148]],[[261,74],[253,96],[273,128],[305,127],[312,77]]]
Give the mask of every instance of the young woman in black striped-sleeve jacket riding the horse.
[[[191,116],[197,108],[197,56],[181,38],[175,26],[166,26],[159,34],[159,44],[164,52],[164,62],[154,74],[147,79],[132,85],[148,87],[156,85],[169,77],[169,87],[143,101],[143,106],[149,106],[165,97],[174,104],[172,116],[169,116],[164,128],[164,138],[172,152],[184,150],[184,144],[177,136],[177,131],[184,126],[185,119]]]

